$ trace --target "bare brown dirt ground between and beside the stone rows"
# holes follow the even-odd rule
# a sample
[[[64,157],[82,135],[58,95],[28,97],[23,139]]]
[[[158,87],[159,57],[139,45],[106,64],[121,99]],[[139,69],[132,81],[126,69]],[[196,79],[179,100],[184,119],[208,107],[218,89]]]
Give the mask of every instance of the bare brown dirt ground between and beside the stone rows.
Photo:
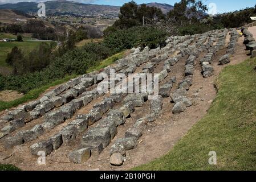
[[[249,30],[256,37],[256,27],[251,27]],[[228,42],[229,36],[227,36],[226,44]],[[241,63],[243,60],[250,57],[247,55],[249,51],[245,51],[245,46],[242,42],[243,38],[239,38],[235,54],[231,57],[231,63],[227,65]],[[159,158],[171,150],[174,144],[188,132],[194,123],[199,121],[207,113],[212,101],[216,97],[214,81],[221,70],[227,66],[218,65],[218,60],[225,54],[225,51],[226,48],[218,51],[214,57],[214,75],[209,78],[202,77],[201,66],[199,64],[199,60],[205,55],[205,52],[198,57],[193,76],[193,85],[190,87],[188,92],[188,97],[193,100],[193,106],[188,107],[184,113],[174,115],[172,114],[173,104],[170,103],[170,98],[164,98],[161,116],[156,119],[155,122],[148,124],[147,129],[143,132],[143,136],[139,139],[137,147],[133,150],[127,151],[125,162],[121,167],[113,167],[109,164],[110,147],[117,138],[124,137],[124,132],[132,126],[137,119],[150,113],[149,101],[146,102],[143,107],[136,107],[135,112],[131,114],[131,117],[127,119],[126,123],[123,126],[118,127],[118,133],[109,146],[105,148],[99,156],[91,156],[87,162],[74,164],[69,162],[67,158],[68,152],[74,150],[74,148],[78,146],[78,142],[82,137],[82,134],[79,135],[76,143],[71,144],[70,146],[62,146],[55,152],[52,152],[52,154],[48,155],[46,157],[46,165],[38,165],[37,158],[30,154],[29,147],[31,144],[56,133],[71,121],[69,120],[63,123],[63,125],[56,127],[42,138],[23,144],[22,146],[14,147],[11,151],[5,151],[5,149],[0,146],[0,163],[12,163],[23,170],[126,170]],[[185,59],[182,59],[172,67],[172,72],[169,73],[164,82],[169,80],[172,76],[177,77],[177,82],[181,81],[184,77],[184,67]],[[155,72],[159,72],[161,68],[162,64],[155,69]],[[140,68],[137,69],[140,70]],[[175,88],[177,88],[177,84],[174,85],[173,89]],[[99,97],[86,107],[83,107],[83,109],[79,110],[76,114],[86,113],[95,103],[101,101],[104,97]],[[116,105],[115,107],[117,108],[119,105]],[[38,121],[38,123],[40,123],[40,121]],[[31,126],[28,125],[26,127],[30,128],[32,127],[32,124]]]

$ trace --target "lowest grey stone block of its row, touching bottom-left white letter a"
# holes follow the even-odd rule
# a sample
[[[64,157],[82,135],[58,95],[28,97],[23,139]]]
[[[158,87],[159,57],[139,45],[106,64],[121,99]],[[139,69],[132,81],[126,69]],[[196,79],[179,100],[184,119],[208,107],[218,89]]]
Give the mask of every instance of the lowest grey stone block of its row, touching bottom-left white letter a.
[[[46,140],[43,142],[38,142],[38,143],[33,144],[30,147],[30,152],[32,155],[42,155],[42,154],[38,153],[39,151],[44,151],[46,156],[50,155],[51,152],[53,151],[51,141]]]

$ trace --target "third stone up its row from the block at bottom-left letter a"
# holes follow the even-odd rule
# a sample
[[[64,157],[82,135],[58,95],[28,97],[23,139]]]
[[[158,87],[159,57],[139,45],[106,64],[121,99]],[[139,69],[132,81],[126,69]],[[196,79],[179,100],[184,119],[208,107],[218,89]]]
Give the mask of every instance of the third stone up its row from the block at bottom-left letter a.
[[[64,144],[69,144],[70,142],[74,141],[78,136],[78,133],[78,129],[72,125],[68,125],[60,131],[60,134],[62,134],[62,141]]]

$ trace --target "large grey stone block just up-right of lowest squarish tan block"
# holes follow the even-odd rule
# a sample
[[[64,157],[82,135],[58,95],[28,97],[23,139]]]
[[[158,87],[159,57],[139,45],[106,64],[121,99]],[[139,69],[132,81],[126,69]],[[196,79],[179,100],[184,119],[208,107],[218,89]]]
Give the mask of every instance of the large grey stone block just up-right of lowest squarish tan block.
[[[107,128],[95,127],[88,129],[83,136],[83,142],[102,143],[103,147],[107,147],[111,140],[111,135]]]

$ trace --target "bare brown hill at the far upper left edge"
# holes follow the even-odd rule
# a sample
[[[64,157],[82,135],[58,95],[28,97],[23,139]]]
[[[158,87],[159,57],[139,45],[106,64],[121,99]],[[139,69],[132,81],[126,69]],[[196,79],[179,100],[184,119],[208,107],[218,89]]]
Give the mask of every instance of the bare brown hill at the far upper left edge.
[[[30,16],[17,10],[0,10],[0,22],[2,23],[22,23],[27,22]]]

